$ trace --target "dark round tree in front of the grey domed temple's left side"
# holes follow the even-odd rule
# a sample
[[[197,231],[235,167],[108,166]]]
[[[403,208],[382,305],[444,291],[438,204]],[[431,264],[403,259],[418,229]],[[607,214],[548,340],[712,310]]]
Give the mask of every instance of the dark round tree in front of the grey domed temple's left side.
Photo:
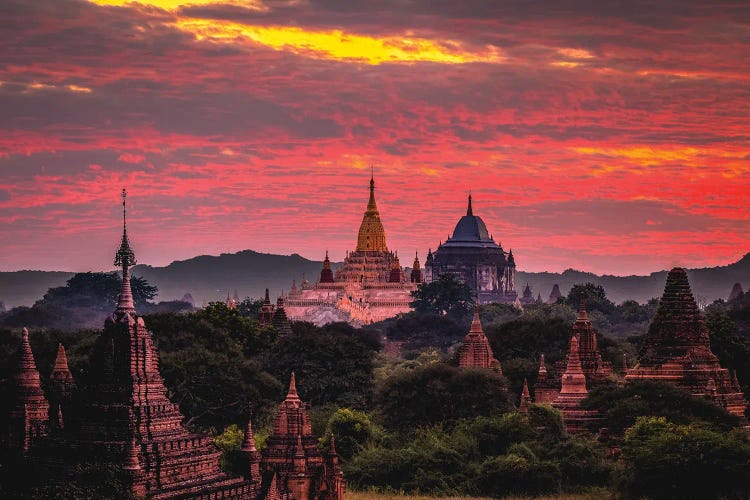
[[[410,304],[417,312],[461,317],[474,304],[474,292],[452,274],[441,274],[437,281],[422,283],[411,293]]]

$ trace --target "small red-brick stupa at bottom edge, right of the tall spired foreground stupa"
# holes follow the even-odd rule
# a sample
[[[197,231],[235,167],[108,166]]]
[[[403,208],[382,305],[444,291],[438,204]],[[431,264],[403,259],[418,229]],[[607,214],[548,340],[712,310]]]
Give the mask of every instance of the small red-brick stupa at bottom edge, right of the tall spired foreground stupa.
[[[340,500],[344,496],[338,455],[333,448],[325,457],[320,453],[307,405],[297,394],[294,373],[276,413],[273,434],[263,449],[262,470],[266,476],[277,478],[282,494],[296,500]]]

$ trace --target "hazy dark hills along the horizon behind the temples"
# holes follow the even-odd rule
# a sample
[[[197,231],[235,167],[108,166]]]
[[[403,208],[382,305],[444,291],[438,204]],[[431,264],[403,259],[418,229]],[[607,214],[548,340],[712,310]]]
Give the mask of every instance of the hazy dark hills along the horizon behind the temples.
[[[297,254],[274,255],[245,250],[219,256],[201,255],[172,262],[166,267],[139,265],[133,273],[159,287],[158,300],[179,299],[190,292],[195,304],[201,306],[223,300],[227,292],[234,294],[235,289],[242,298],[261,297],[268,287],[275,298],[282,290],[289,290],[293,279],[299,285],[303,273],[310,281],[317,280],[322,265],[321,261]],[[48,288],[64,285],[72,275],[58,271],[0,272],[0,301],[6,308],[31,305]],[[590,281],[602,285],[616,303],[627,299],[645,302],[661,296],[666,276],[666,270],[648,276],[598,276],[572,269],[563,273],[519,271],[516,287],[521,293],[528,282],[534,296],[540,292],[546,301],[555,283],[565,295],[574,284]],[[726,300],[734,283],[741,283],[745,290],[750,288],[750,254],[728,266],[688,270],[688,276],[697,298],[708,302],[717,298]]]

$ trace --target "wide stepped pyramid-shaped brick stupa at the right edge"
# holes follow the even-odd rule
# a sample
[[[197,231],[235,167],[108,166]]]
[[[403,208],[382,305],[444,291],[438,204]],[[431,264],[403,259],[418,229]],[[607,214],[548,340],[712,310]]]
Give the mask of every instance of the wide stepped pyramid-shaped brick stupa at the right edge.
[[[643,354],[625,377],[628,382],[644,379],[671,382],[695,396],[709,398],[733,415],[745,413],[747,401],[739,384],[711,352],[708,328],[682,268],[667,275]]]

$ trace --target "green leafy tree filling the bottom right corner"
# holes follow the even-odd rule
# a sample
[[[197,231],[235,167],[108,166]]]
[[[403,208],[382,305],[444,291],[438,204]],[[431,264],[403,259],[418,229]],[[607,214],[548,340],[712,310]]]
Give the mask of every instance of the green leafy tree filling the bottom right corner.
[[[743,431],[639,417],[622,454],[620,489],[629,498],[750,498],[750,443]]]

